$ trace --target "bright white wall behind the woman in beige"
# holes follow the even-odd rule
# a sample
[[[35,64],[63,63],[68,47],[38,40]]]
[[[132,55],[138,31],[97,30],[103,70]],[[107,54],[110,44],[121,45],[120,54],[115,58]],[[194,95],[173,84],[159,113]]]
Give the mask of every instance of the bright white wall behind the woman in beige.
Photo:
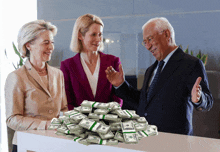
[[[0,96],[1,96],[1,150],[7,151],[7,134],[5,118],[4,84],[9,72],[14,70],[12,62],[16,63],[18,57],[14,54],[12,42],[17,44],[19,29],[26,22],[37,19],[37,0],[0,0]],[[4,50],[7,50],[8,58]]]

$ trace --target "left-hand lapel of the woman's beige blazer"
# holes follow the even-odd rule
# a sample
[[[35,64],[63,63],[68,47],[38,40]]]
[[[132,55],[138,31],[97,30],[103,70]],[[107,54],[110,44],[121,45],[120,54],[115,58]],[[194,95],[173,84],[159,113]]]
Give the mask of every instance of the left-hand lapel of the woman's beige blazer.
[[[30,61],[27,60],[25,62],[25,67],[27,68],[28,73],[33,77],[33,79],[40,85],[40,87],[51,97],[50,92],[48,91],[46,85],[41,80],[39,74],[34,69],[34,67],[31,65]]]

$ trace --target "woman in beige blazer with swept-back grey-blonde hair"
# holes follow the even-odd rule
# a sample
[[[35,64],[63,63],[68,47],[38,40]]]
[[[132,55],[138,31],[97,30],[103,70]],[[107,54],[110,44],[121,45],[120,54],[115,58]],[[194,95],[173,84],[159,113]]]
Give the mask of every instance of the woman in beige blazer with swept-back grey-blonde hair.
[[[18,48],[25,64],[7,77],[5,84],[6,123],[16,131],[47,129],[50,121],[68,111],[63,73],[47,64],[54,50],[57,28],[36,20],[18,34]]]

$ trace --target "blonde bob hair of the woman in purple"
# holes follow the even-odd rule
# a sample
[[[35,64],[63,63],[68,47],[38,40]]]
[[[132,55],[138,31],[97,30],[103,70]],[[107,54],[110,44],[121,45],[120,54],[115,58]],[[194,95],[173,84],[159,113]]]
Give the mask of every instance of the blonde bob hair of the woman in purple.
[[[73,52],[80,53],[82,51],[82,42],[78,38],[79,32],[82,34],[82,36],[85,36],[86,32],[88,32],[89,27],[92,24],[100,24],[104,28],[104,23],[102,22],[101,18],[99,18],[96,15],[93,14],[85,14],[77,18],[74,27],[73,27],[73,33],[72,33],[72,39],[70,42],[70,49]],[[104,43],[103,41],[100,44],[99,51],[104,50]]]

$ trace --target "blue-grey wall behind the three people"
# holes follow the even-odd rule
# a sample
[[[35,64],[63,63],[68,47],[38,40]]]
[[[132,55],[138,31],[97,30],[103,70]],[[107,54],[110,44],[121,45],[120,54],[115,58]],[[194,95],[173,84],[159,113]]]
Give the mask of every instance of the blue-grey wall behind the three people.
[[[143,74],[154,57],[141,45],[142,25],[152,17],[164,16],[174,27],[177,45],[207,53],[207,70],[220,70],[219,0],[38,0],[38,19],[58,27],[51,64],[74,55],[69,49],[72,28],[80,15],[92,13],[105,24],[105,53],[120,57],[126,75]]]

